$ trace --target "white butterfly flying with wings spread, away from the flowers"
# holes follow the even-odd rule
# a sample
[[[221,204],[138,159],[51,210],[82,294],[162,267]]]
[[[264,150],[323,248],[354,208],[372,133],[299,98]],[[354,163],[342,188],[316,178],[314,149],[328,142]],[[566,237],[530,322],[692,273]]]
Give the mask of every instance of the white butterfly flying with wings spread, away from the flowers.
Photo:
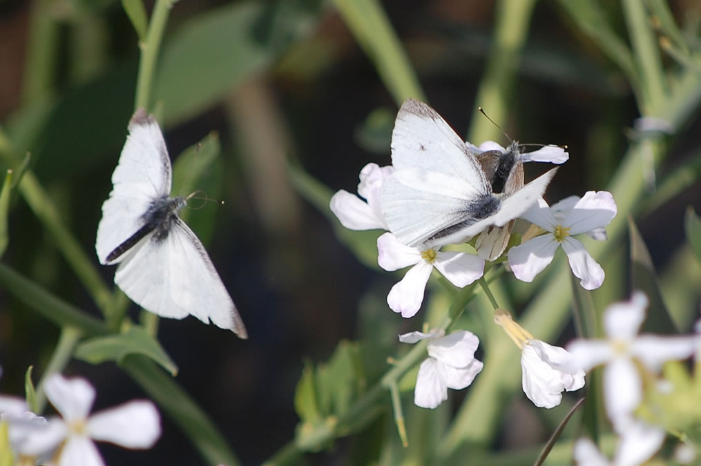
[[[170,158],[161,128],[139,109],[102,204],[95,250],[119,266],[114,282],[163,317],[193,315],[247,338],[240,315],[195,233],[177,216],[186,198],[170,198]]]

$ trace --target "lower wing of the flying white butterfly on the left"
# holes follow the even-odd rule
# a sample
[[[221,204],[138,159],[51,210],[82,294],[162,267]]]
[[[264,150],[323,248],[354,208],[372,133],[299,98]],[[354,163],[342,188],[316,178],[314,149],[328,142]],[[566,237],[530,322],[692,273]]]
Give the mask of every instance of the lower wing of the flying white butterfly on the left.
[[[195,233],[175,219],[165,238],[147,235],[125,254],[114,282],[144,309],[162,317],[193,315],[247,338],[236,306]]]

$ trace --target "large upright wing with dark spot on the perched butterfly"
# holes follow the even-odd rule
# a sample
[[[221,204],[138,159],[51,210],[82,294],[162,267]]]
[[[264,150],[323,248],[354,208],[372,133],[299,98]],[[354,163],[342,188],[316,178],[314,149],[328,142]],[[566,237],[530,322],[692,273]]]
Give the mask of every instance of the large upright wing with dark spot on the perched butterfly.
[[[418,246],[470,219],[492,199],[491,186],[465,142],[428,105],[407,100],[392,133],[395,172],[383,181],[381,207],[400,242]]]

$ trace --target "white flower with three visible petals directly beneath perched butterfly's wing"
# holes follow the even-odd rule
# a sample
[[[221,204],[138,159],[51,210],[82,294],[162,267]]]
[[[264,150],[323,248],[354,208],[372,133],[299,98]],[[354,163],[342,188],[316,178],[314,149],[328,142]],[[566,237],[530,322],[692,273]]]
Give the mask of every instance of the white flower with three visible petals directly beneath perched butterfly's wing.
[[[465,287],[482,277],[484,259],[464,252],[439,252],[437,249],[418,249],[402,245],[392,233],[377,238],[377,262],[389,272],[413,266],[404,278],[395,284],[387,296],[387,303],[402,317],[413,317],[423,302],[423,292],[437,268],[456,287]]]

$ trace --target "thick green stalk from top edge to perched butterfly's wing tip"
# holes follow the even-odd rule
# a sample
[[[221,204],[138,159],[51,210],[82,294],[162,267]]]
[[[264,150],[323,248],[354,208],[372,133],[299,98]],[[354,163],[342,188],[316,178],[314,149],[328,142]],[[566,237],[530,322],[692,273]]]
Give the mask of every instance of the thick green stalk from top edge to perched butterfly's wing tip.
[[[355,40],[374,63],[397,107],[409,98],[426,101],[409,57],[376,0],[334,0]]]

